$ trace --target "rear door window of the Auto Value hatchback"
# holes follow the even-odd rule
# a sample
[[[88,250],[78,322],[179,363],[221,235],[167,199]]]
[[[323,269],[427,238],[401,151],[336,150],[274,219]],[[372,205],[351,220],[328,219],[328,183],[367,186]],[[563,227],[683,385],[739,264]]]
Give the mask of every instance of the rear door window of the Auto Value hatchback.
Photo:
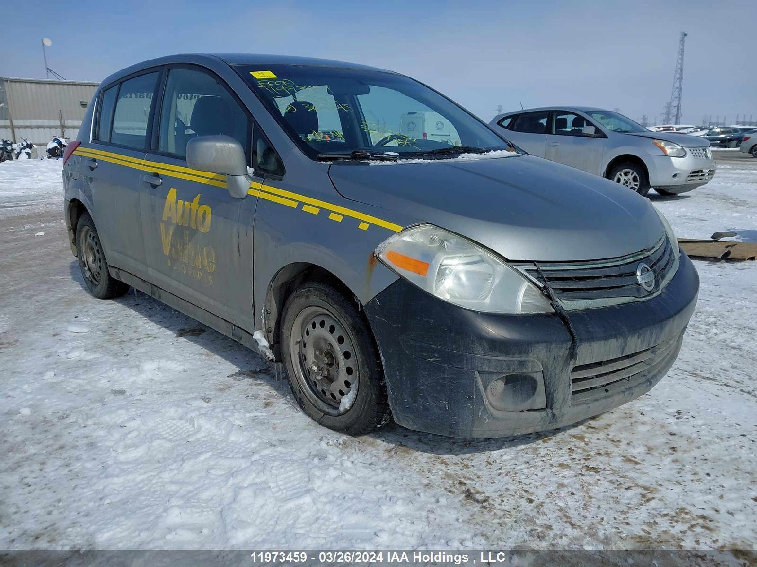
[[[113,116],[111,142],[128,147],[147,147],[147,126],[150,119],[158,73],[140,75],[121,83]]]

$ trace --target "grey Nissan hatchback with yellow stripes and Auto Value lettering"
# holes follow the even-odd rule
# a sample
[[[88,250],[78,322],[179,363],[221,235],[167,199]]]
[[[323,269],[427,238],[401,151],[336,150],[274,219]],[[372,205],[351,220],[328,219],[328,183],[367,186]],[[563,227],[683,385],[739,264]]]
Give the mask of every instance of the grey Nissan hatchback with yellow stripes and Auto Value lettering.
[[[129,67],[98,88],[63,179],[94,296],[135,287],[280,361],[303,411],[354,435],[608,411],[662,379],[696,305],[649,201],[361,65]]]

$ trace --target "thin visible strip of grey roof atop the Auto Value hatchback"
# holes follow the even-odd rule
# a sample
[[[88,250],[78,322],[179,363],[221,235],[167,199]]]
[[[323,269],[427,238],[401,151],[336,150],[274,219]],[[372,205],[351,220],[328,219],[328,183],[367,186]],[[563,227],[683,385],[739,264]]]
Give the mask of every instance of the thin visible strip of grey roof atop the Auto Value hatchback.
[[[316,59],[315,57],[298,57],[296,55],[258,53],[181,53],[156,57],[155,59],[142,61],[141,63],[126,67],[125,69],[106,77],[101,82],[101,85],[108,85],[124,76],[137,73],[138,71],[148,69],[149,67],[157,67],[159,65],[172,63],[200,64],[210,67],[212,67],[213,64],[217,65],[219,63],[226,65],[307,65],[310,67],[339,67],[341,69],[372,70],[392,73],[391,71],[379,69],[378,67],[369,67],[368,65],[347,63],[345,61],[332,59]]]

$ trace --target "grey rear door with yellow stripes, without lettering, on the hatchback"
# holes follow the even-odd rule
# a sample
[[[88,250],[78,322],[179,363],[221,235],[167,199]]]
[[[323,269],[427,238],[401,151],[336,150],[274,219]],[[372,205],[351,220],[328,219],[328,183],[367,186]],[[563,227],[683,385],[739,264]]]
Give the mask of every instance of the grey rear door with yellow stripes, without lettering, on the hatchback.
[[[159,72],[151,70],[105,89],[84,156],[84,191],[110,265],[144,275],[139,162],[145,157]]]

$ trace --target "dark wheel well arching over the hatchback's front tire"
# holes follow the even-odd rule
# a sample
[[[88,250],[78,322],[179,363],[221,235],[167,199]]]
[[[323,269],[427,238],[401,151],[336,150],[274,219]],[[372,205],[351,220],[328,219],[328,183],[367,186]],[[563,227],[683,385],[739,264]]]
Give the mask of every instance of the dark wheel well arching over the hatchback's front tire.
[[[355,294],[344,285],[332,272],[318,265],[307,262],[295,262],[281,268],[271,280],[266,293],[266,303],[263,306],[263,326],[271,350],[276,361],[281,360],[279,332],[281,330],[282,313],[287,299],[306,281],[322,281],[330,283],[344,293],[345,297],[355,297]],[[357,302],[357,298],[355,298]]]

